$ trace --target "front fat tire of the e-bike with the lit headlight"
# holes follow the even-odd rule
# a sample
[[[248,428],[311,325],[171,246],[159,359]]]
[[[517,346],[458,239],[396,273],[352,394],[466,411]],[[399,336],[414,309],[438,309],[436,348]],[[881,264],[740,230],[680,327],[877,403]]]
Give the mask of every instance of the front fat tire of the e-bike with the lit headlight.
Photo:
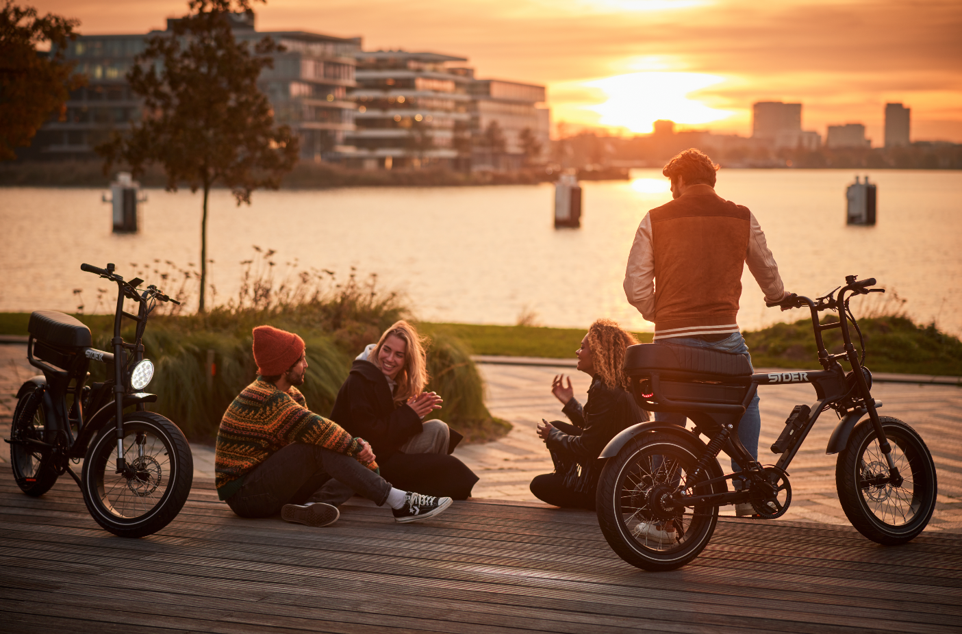
[[[169,468],[164,471],[164,478],[169,484],[165,485],[165,491],[157,503],[142,515],[121,518],[111,512],[99,491],[105,474],[114,475],[116,427],[112,421],[97,433],[88,448],[81,475],[84,502],[93,520],[114,535],[131,538],[153,535],[177,517],[190,495],[193,483],[190,444],[177,425],[153,412],[126,414],[123,427],[125,439],[129,432],[137,430],[149,431],[161,439],[169,457]]]

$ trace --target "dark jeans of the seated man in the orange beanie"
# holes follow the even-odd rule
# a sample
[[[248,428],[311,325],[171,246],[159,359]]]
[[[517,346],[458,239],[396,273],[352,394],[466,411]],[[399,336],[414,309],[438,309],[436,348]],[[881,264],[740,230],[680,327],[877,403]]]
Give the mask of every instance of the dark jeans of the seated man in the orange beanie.
[[[292,443],[247,473],[227,505],[241,518],[268,518],[285,504],[323,501],[318,490],[331,478],[378,506],[391,493],[391,484],[354,458],[315,444]]]

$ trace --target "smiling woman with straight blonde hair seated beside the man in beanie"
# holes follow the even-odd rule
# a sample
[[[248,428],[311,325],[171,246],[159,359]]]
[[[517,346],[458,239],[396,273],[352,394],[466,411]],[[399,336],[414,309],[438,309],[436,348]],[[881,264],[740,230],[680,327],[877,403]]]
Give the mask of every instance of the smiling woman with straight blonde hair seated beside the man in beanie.
[[[423,486],[414,491],[465,499],[478,478],[449,455],[461,435],[442,420],[424,420],[443,403],[438,394],[424,392],[426,361],[418,331],[407,321],[397,321],[354,360],[331,419],[370,444],[381,475],[395,487],[418,482]],[[324,500],[329,504],[350,496],[333,483],[325,489],[331,495]]]

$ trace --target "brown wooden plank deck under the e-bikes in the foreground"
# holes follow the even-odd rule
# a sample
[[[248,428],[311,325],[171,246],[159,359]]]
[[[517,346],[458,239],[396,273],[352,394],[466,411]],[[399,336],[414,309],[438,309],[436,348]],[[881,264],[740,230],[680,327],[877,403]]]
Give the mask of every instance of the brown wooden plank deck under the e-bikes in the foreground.
[[[64,476],[0,473],[0,632],[949,632],[962,535],[722,519],[679,571],[638,571],[594,514],[455,502],[421,524],[354,498],[309,528],[241,520],[196,481],[158,535],[114,537]]]

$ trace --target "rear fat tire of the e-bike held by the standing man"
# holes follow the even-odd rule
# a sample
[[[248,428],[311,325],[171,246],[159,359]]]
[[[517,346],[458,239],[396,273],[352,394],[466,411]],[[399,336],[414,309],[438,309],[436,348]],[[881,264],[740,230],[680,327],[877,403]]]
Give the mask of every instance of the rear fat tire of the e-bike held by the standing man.
[[[684,455],[690,456],[690,463],[686,471],[692,469],[698,457],[705,451],[704,444],[696,443],[677,434],[671,433],[649,433],[643,434],[632,439],[628,444],[621,447],[618,455],[608,460],[601,476],[598,479],[597,494],[595,497],[595,509],[598,518],[598,525],[604,535],[608,545],[625,562],[646,571],[671,571],[688,564],[695,559],[698,554],[708,545],[715,526],[718,523],[719,507],[712,506],[707,510],[707,518],[701,515],[697,519],[697,534],[684,545],[671,551],[664,552],[655,548],[639,544],[627,533],[621,516],[621,483],[627,477],[626,469],[629,469],[640,454],[651,451],[654,445],[666,445],[666,450],[680,451]],[[712,464],[712,461],[714,464]],[[703,475],[699,480],[717,477],[722,474],[722,469],[717,459],[709,462],[708,474]],[[721,492],[723,484],[713,486],[713,492]]]

